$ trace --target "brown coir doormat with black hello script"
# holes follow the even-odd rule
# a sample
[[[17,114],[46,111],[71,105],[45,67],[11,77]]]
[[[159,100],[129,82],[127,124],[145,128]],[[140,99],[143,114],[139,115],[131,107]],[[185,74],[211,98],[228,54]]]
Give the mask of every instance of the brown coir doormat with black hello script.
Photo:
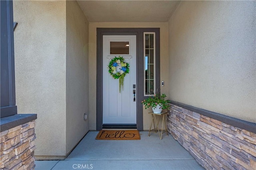
[[[98,140],[140,140],[137,130],[101,130],[96,139]]]

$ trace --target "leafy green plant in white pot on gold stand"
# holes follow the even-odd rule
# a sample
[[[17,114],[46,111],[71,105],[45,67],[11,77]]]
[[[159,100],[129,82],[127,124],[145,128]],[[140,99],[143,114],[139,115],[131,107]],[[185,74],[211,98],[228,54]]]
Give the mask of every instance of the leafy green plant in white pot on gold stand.
[[[154,95],[142,100],[141,103],[145,106],[145,109],[152,107],[154,113],[161,113],[162,109],[169,109],[170,107],[168,100],[165,100],[165,98],[165,94],[160,95],[154,92]]]

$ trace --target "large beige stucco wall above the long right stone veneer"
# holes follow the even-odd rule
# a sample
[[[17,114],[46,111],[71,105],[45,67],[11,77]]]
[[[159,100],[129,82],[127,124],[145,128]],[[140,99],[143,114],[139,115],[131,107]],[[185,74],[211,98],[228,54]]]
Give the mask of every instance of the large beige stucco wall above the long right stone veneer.
[[[168,23],[171,100],[256,122],[255,4],[179,4]]]

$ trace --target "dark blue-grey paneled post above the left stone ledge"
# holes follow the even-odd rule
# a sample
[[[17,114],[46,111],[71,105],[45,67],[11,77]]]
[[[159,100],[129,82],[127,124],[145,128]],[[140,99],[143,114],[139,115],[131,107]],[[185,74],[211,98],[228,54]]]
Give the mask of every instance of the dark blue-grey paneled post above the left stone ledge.
[[[1,109],[0,117],[17,114],[15,99],[14,35],[12,0],[1,0]]]

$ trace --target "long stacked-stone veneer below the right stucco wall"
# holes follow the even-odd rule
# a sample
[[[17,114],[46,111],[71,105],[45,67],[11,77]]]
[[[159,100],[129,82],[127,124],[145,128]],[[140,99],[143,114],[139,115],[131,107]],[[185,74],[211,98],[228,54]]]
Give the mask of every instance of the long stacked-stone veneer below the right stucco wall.
[[[168,131],[206,169],[256,168],[256,134],[171,104]]]

